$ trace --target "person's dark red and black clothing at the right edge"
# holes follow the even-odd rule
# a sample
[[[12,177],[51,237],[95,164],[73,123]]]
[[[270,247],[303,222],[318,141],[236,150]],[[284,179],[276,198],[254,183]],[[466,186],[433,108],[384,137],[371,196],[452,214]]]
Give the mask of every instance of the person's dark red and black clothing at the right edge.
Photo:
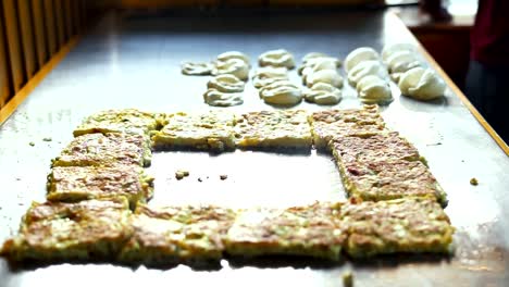
[[[509,142],[509,0],[480,0],[465,93]]]

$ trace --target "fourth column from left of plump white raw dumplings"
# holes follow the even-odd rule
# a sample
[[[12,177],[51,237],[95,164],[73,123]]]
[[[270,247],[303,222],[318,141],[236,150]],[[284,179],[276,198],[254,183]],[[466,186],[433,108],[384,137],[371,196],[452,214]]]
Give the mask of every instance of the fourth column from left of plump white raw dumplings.
[[[373,48],[361,47],[351,51],[345,59],[345,71],[348,83],[357,89],[363,103],[393,101],[387,68]]]

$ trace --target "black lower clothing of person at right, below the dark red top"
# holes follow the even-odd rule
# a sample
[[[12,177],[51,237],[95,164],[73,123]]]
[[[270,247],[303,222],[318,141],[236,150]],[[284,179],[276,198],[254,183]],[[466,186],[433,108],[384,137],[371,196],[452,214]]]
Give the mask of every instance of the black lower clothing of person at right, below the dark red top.
[[[470,61],[465,90],[472,104],[509,144],[509,66]]]

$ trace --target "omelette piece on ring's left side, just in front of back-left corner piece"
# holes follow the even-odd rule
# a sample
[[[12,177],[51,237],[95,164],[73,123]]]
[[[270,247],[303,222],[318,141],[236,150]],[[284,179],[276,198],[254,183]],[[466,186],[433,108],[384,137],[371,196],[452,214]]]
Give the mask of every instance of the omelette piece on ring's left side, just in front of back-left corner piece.
[[[52,166],[149,166],[152,152],[146,136],[87,134],[75,137]]]

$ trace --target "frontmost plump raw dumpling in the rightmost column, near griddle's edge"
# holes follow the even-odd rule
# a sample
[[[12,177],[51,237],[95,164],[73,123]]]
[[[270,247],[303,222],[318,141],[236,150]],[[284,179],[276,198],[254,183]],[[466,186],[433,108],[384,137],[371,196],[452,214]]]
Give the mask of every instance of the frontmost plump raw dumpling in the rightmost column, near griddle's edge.
[[[399,79],[399,89],[405,96],[418,100],[433,100],[444,96],[446,85],[431,68],[414,67]]]

